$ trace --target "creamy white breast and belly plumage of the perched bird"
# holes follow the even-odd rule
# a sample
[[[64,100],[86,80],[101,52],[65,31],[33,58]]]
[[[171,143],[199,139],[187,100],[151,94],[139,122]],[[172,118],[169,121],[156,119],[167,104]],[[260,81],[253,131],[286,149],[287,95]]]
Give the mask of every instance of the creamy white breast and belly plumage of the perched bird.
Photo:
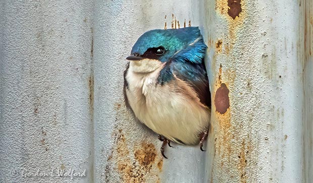
[[[177,84],[156,84],[162,63],[149,73],[136,73],[130,64],[126,95],[136,117],[158,134],[181,144],[194,145],[208,127],[211,111],[198,98],[177,93]],[[137,70],[135,68],[135,70]],[[186,85],[186,87],[190,86]]]

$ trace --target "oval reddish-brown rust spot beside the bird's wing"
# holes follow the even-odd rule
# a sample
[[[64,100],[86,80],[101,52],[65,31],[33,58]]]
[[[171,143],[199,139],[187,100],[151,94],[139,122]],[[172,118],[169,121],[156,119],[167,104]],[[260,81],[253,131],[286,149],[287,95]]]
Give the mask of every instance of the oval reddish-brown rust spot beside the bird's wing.
[[[215,107],[216,111],[224,114],[226,113],[227,109],[229,108],[229,89],[227,88],[225,83],[221,84],[221,87],[216,90],[215,93]]]

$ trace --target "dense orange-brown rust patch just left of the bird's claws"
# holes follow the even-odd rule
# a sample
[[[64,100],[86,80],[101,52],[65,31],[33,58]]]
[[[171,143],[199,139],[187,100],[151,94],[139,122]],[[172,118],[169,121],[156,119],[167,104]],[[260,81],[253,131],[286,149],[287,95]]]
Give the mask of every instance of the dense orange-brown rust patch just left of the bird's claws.
[[[135,159],[146,169],[150,169],[154,163],[156,152],[153,144],[142,143],[141,148],[135,152]]]

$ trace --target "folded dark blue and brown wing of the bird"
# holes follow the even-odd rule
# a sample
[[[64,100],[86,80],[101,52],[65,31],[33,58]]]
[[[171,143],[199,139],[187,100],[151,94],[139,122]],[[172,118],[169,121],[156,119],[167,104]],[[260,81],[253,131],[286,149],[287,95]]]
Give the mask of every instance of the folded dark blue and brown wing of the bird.
[[[189,83],[196,91],[200,102],[211,107],[211,94],[203,59],[201,63],[175,59],[168,61],[160,72],[158,82],[163,85],[174,79],[174,75]]]

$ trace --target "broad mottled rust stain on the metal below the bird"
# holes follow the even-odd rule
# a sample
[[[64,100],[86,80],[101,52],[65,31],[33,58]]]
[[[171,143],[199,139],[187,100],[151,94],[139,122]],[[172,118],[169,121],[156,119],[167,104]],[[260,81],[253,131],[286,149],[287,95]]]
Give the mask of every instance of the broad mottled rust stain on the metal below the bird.
[[[141,183],[146,180],[152,182],[159,180],[158,173],[161,172],[163,160],[158,156],[153,144],[144,141],[131,144],[122,129],[116,129],[113,136],[116,148],[108,158],[105,168],[106,181],[110,182],[112,171],[120,174],[121,182]]]

